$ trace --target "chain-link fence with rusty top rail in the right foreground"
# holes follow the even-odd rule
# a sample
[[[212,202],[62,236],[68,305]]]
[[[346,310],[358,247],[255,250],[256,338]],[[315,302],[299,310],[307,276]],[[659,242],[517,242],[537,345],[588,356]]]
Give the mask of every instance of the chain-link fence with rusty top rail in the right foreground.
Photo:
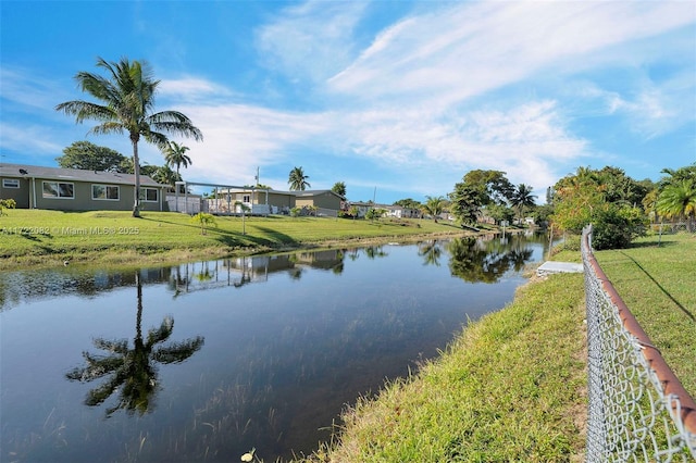
[[[583,230],[588,351],[586,461],[696,462],[696,404],[650,343]]]

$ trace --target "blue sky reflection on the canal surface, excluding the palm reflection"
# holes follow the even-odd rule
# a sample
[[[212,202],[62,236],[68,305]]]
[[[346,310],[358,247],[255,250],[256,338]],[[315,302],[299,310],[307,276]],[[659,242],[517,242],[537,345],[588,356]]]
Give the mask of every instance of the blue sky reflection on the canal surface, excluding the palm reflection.
[[[192,421],[222,421],[238,408],[245,420],[252,420],[251,430],[221,436],[216,445],[227,461],[236,461],[251,447],[266,461],[287,454],[288,448],[311,451],[318,439],[328,437],[316,429],[331,425],[344,403],[378,389],[385,377],[407,374],[421,354],[435,355],[468,318],[510,301],[523,280],[509,275],[496,285],[464,283],[450,275],[446,252],[434,266],[424,265],[415,246],[380,250],[386,255],[370,259],[361,251],[357,259],[346,256],[339,274],[325,270],[332,267],[327,255],[316,266],[307,254],[291,264],[269,264],[273,271],[268,274],[260,263],[270,261],[263,258],[251,267],[268,278],[176,297],[169,284],[176,272],[142,271],[144,335],[171,315],[174,329],[169,341],[202,336],[204,346],[182,364],[159,366],[156,408],[137,420],[116,413],[104,422],[104,406],[83,404],[87,391],[101,381],[79,384],[64,377],[83,364],[83,351],[103,353],[92,345],[95,338],[128,339],[133,345],[135,273],[91,275],[92,284],[82,285],[90,293],[86,298],[74,289],[66,296],[55,293],[55,288],[79,279],[74,268],[65,271],[58,286],[44,285],[50,298],[20,290],[23,302],[0,312],[2,448],[16,443],[9,441],[13,433],[22,439],[29,433],[44,435],[45,423],[65,423],[60,439],[69,446],[52,458],[98,460],[107,452],[121,454],[125,443],[135,445],[141,435],[148,436],[149,445],[165,447],[166,436],[183,431],[191,440],[213,439],[201,435],[201,428],[192,429]],[[220,262],[190,264],[189,276],[216,268],[214,278],[224,280],[229,265]],[[293,272],[298,267],[299,278]],[[179,266],[179,274],[183,270]],[[191,285],[209,283],[192,278]],[[94,287],[107,290],[92,292]],[[217,395],[239,385],[244,397],[227,397],[225,410],[201,412]],[[250,408],[252,402],[258,410]],[[108,400],[104,405],[109,404]],[[270,409],[275,410],[276,427],[264,424]],[[274,433],[281,431],[284,440],[277,443]],[[58,437],[46,436],[36,451],[49,454],[58,441],[53,439]]]

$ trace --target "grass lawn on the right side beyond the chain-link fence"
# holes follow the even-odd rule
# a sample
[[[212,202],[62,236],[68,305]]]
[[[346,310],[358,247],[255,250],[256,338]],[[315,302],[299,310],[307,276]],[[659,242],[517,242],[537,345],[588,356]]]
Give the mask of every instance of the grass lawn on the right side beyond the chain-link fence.
[[[660,350],[684,388],[696,397],[696,236],[652,236],[629,249],[595,252],[597,262]]]

